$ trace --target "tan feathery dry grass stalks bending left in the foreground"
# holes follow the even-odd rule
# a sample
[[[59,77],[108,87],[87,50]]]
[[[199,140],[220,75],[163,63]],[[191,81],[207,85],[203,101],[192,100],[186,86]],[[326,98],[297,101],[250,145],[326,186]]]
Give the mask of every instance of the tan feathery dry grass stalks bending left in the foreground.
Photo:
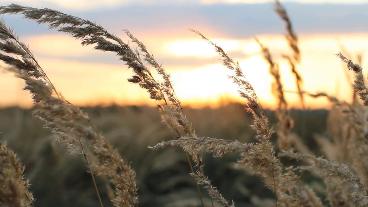
[[[270,74],[275,79],[273,93],[279,101],[279,107],[275,114],[275,131],[270,124],[268,116],[266,116],[266,112],[258,101],[256,92],[244,76],[240,65],[234,62],[220,46],[215,45],[205,35],[199,31],[192,30],[192,32],[195,32],[195,34],[212,45],[220,57],[222,57],[222,63],[232,73],[229,79],[238,85],[239,95],[247,101],[247,112],[252,115],[251,127],[255,133],[253,142],[249,142],[250,137],[238,139],[238,137],[226,137],[227,135],[222,136],[222,134],[217,133],[209,134],[216,136],[214,138],[209,137],[209,135],[197,135],[198,133],[194,130],[194,124],[187,118],[180,99],[175,95],[174,87],[170,82],[170,74],[164,70],[161,64],[158,64],[144,44],[128,30],[125,30],[125,34],[138,46],[137,50],[133,50],[130,45],[124,43],[118,36],[110,34],[102,26],[88,20],[47,8],[38,9],[16,4],[0,7],[1,14],[21,14],[26,19],[36,21],[39,24],[47,24],[49,29],[57,29],[59,32],[64,32],[80,39],[82,45],[94,45],[96,50],[115,53],[134,72],[134,75],[128,81],[138,84],[145,89],[150,94],[151,99],[162,102],[162,104],[158,105],[160,117],[172,132],[167,132],[165,139],[154,140],[160,141],[158,144],[148,141],[151,151],[147,152],[147,156],[141,158],[140,162],[144,165],[151,163],[150,167],[156,170],[157,176],[163,176],[162,179],[167,181],[169,178],[164,176],[163,171],[158,169],[162,169],[163,166],[169,166],[170,160],[152,162],[147,157],[152,157],[153,154],[157,153],[152,149],[159,150],[169,146],[181,148],[186,154],[184,160],[181,157],[172,157],[171,160],[188,162],[188,167],[191,171],[189,175],[194,180],[188,181],[187,176],[183,176],[180,178],[180,182],[185,180],[185,183],[191,183],[197,189],[197,195],[199,196],[199,199],[194,200],[192,203],[188,200],[187,203],[181,203],[180,200],[174,199],[171,206],[230,207],[236,205],[229,196],[223,195],[227,192],[214,187],[216,185],[208,178],[204,165],[205,160],[203,159],[205,155],[203,153],[212,154],[212,157],[215,158],[236,154],[237,166],[247,166],[245,168],[247,172],[260,176],[264,185],[274,193],[273,200],[260,199],[244,189],[241,191],[242,195],[248,196],[251,203],[256,206],[325,206],[325,202],[323,202],[321,197],[317,196],[317,193],[323,194],[329,201],[330,206],[367,206],[368,143],[366,137],[368,124],[366,107],[368,106],[368,88],[365,85],[362,68],[341,53],[337,55],[346,64],[348,70],[352,70],[355,73],[353,90],[361,102],[355,101],[354,104],[349,104],[322,92],[309,94],[303,91],[302,78],[296,70],[297,64],[301,59],[297,36],[293,31],[286,10],[279,1],[276,1],[276,12],[286,22],[286,37],[293,55],[292,57],[283,56],[289,61],[291,72],[296,77],[297,93],[300,95],[301,103],[304,105],[304,95],[315,98],[322,96],[328,98],[339,109],[337,111],[337,115],[341,117],[339,123],[329,123],[329,125],[332,128],[341,127],[344,130],[339,132],[340,134],[332,133],[330,139],[322,139],[321,137],[323,136],[319,135],[320,138],[318,140],[318,144],[321,144],[322,148],[323,145],[328,145],[329,149],[335,147],[335,149],[343,150],[343,155],[337,157],[337,160],[332,160],[336,155],[334,156],[329,151],[323,151],[328,159],[319,157],[315,154],[315,151],[309,150],[303,144],[301,141],[302,137],[292,132],[294,120],[288,108],[287,100],[284,97],[286,91],[284,91],[280,79],[281,74],[278,70],[278,64],[272,59],[269,49],[262,45],[258,39],[256,41],[261,46],[263,56],[269,63]],[[106,202],[103,199],[107,197],[112,201],[110,204],[114,206],[138,206],[138,200],[140,199],[138,199],[137,185],[139,186],[139,183],[137,184],[136,182],[141,179],[137,176],[137,172],[133,170],[131,164],[120,155],[121,151],[129,150],[131,154],[135,154],[132,149],[129,149],[134,143],[128,143],[123,147],[124,150],[116,150],[113,139],[105,138],[104,133],[98,129],[97,126],[99,124],[95,124],[87,113],[62,97],[37,63],[31,50],[2,21],[0,22],[0,40],[0,50],[3,52],[0,55],[0,60],[6,63],[3,65],[3,70],[14,73],[16,77],[24,80],[24,90],[32,94],[35,103],[33,115],[44,122],[45,127],[54,134],[55,140],[67,147],[71,155],[82,154],[85,158],[86,169],[92,175],[96,175],[97,179],[95,179],[95,176],[91,178],[93,181],[91,185],[94,187],[95,193],[97,193],[97,195],[95,194],[96,202],[100,206],[104,206]],[[148,63],[151,68],[156,70],[160,80],[153,77],[150,68],[145,63]],[[130,112],[125,111],[124,113]],[[148,119],[147,117],[151,117],[148,113],[150,112],[144,111],[142,116]],[[241,118],[244,119],[244,117]],[[215,120],[216,122],[222,121],[221,118]],[[111,119],[108,121],[111,122]],[[119,126],[127,124],[132,123],[122,123]],[[145,137],[151,137],[152,131],[150,130],[161,129],[161,125],[146,124],[143,126],[153,127],[152,129],[146,127]],[[228,124],[228,126],[232,126],[232,123]],[[116,136],[114,133],[118,135],[127,133],[126,131],[107,131],[110,133],[107,135],[108,137]],[[276,142],[271,140],[274,132],[277,137]],[[133,135],[130,134],[130,136]],[[163,135],[160,136],[162,137]],[[233,134],[230,134],[230,136],[233,136]],[[60,164],[62,162],[60,154],[57,153],[58,151],[53,144],[49,145],[52,156],[50,158],[40,156],[43,161],[36,163],[52,164],[56,168],[63,166]],[[277,154],[278,150],[276,151],[275,147],[281,150],[281,152]],[[32,206],[33,198],[28,191],[28,181],[23,178],[23,167],[20,161],[3,143],[0,143],[0,154],[1,206]],[[288,164],[287,161],[283,161],[282,158],[284,157],[291,159],[294,165],[289,165],[290,162]],[[295,163],[296,160],[302,160],[303,162],[298,164]],[[318,190],[318,187],[308,185],[301,178],[299,171],[310,171],[312,175],[319,176],[324,181],[326,188],[321,192],[321,190]],[[42,173],[42,171],[38,173]],[[138,175],[144,175],[145,173],[148,173],[148,167],[138,171]],[[103,185],[100,183],[103,183]],[[37,184],[34,183],[33,185]],[[164,186],[163,183],[156,184],[157,186],[155,187],[162,189],[170,190],[171,187],[174,187],[170,182],[167,182],[169,187]],[[200,186],[206,190],[208,197],[203,195]],[[112,189],[114,189],[113,193]],[[147,189],[143,189],[142,192]],[[105,196],[102,196],[102,194]],[[199,203],[196,201],[199,201]]]

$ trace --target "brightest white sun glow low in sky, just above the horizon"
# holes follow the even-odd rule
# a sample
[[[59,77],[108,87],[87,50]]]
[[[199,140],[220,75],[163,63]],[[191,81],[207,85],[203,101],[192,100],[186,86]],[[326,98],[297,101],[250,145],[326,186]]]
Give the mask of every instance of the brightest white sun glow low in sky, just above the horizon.
[[[236,60],[234,60],[236,61]],[[237,60],[244,76],[253,85],[260,99],[273,102],[269,96],[272,78],[268,74],[268,65],[261,56],[252,56]],[[217,100],[219,97],[237,97],[237,85],[227,75],[233,74],[223,64],[216,63],[193,70],[176,70],[171,73],[176,94],[185,103],[203,103]],[[269,104],[270,105],[270,104]]]

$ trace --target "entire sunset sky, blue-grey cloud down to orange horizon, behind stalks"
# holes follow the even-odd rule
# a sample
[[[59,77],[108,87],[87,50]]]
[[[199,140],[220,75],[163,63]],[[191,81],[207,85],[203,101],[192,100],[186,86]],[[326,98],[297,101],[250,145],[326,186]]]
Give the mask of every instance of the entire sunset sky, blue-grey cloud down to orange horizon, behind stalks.
[[[236,85],[227,79],[229,71],[212,46],[189,29],[197,29],[238,61],[255,88],[261,104],[275,108],[271,94],[272,77],[263,60],[257,37],[269,47],[285,90],[295,91],[295,79],[282,54],[291,54],[284,34],[284,22],[267,0],[0,0],[0,5],[49,7],[66,14],[97,22],[124,41],[128,29],[153,53],[174,84],[183,105],[218,106],[224,100],[241,101]],[[290,0],[281,1],[299,38],[301,64],[297,70],[309,92],[327,92],[340,99],[351,99],[346,68],[336,57],[339,42],[348,53],[363,54],[368,46],[368,0]],[[82,47],[79,40],[47,30],[20,15],[1,15],[14,28],[20,40],[33,50],[50,80],[68,99],[79,105],[118,103],[154,104],[148,93],[127,82],[132,72],[113,53]],[[0,106],[30,106],[29,94],[21,91],[22,81],[12,74],[1,74]],[[300,108],[295,94],[286,94],[291,107]],[[308,108],[326,108],[323,99],[307,98]]]

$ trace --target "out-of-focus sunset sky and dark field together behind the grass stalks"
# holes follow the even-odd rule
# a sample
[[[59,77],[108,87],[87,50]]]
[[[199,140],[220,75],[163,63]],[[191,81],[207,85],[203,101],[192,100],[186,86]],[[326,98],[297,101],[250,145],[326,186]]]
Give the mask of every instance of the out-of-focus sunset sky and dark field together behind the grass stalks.
[[[22,6],[49,7],[97,22],[128,41],[123,29],[144,42],[158,62],[171,74],[177,97],[198,136],[254,141],[251,116],[237,96],[236,85],[227,80],[227,69],[213,48],[188,29],[198,29],[238,61],[254,86],[271,123],[276,99],[271,94],[272,77],[263,60],[257,37],[280,63],[285,90],[296,91],[283,54],[291,54],[284,22],[274,12],[272,1],[263,0],[14,0]],[[366,0],[281,1],[299,38],[301,63],[297,70],[309,92],[327,92],[351,101],[350,83],[335,56],[344,48],[352,57],[361,55],[364,67],[368,43]],[[147,148],[176,136],[161,123],[155,102],[146,91],[127,82],[132,73],[112,53],[92,46],[82,47],[68,35],[47,30],[20,16],[1,15],[20,40],[29,45],[39,64],[66,99],[89,113],[106,138],[131,161],[137,172],[139,206],[201,206],[195,185],[188,176],[184,152],[177,148],[152,151]],[[23,83],[12,74],[0,76],[0,131],[26,166],[35,207],[98,206],[91,176],[82,155],[68,155],[53,141],[43,123],[31,116],[32,102],[22,91]],[[326,121],[330,104],[323,98],[306,98],[301,110],[298,97],[287,93],[293,132],[311,151],[320,151],[315,135],[328,136]],[[300,123],[305,123],[301,126]],[[277,150],[277,149],[276,149]],[[272,206],[273,194],[246,167],[236,168],[237,155],[222,159],[203,155],[205,171],[226,199],[236,206]],[[93,158],[92,158],[93,159]],[[315,189],[316,178],[304,176]],[[106,206],[111,206],[111,186],[98,178]],[[203,190],[203,194],[206,192]],[[206,206],[211,206],[208,197]],[[215,204],[216,206],[217,204]]]

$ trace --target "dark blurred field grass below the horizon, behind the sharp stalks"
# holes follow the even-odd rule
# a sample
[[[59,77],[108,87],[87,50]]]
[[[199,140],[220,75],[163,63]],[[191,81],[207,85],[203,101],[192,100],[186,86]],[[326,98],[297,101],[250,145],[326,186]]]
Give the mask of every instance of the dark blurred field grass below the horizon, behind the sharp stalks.
[[[157,108],[148,106],[109,106],[83,108],[99,130],[118,149],[124,159],[131,162],[137,172],[139,207],[201,206],[185,153],[178,148],[150,150],[147,148],[163,140],[176,137],[161,123]],[[253,131],[251,115],[244,106],[231,103],[218,109],[185,108],[188,120],[193,123],[198,136],[225,138],[251,142]],[[54,137],[43,123],[31,116],[31,110],[21,108],[0,109],[1,139],[8,143],[25,165],[25,176],[30,180],[36,198],[35,207],[93,207],[99,206],[93,183],[82,155],[68,155],[66,148],[54,142]],[[271,123],[276,118],[266,110]],[[302,133],[302,118],[307,125],[303,141],[318,154],[314,133],[326,133],[327,110],[291,110],[296,124],[293,132]],[[275,140],[275,137],[273,138]],[[92,158],[93,159],[93,158]],[[203,155],[206,175],[223,196],[233,199],[237,207],[267,206],[273,193],[264,187],[261,179],[243,168],[235,168],[237,155],[223,158]],[[307,182],[314,178],[306,177]],[[104,206],[112,206],[106,179],[96,182]],[[203,195],[206,191],[203,190]],[[110,195],[111,196],[111,195]],[[212,206],[206,196],[206,206]],[[217,205],[215,204],[215,207]]]

